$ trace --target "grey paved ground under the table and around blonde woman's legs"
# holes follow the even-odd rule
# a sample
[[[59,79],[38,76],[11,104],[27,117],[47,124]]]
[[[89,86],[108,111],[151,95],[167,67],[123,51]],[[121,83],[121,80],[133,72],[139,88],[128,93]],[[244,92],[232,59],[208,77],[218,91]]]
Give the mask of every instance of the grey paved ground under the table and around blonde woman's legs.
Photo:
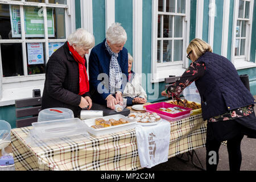
[[[256,99],[256,96],[254,96]],[[256,106],[254,107],[254,111],[256,112]],[[203,164],[205,169],[205,157],[206,150],[205,147],[196,149],[196,154],[200,159],[200,162]],[[243,137],[241,143],[241,151],[242,151],[242,164],[241,171],[256,171],[256,139],[250,139],[247,137]],[[178,157],[180,157],[179,155]],[[188,159],[187,155],[183,155],[184,159]],[[229,159],[228,159],[228,151],[226,146],[221,145],[219,151],[219,163],[217,171],[229,171]],[[142,169],[142,170],[155,170],[155,171],[200,171],[195,166],[193,166],[191,162],[191,157],[189,157],[189,162],[184,163],[181,162],[177,157],[170,158],[168,162],[159,164],[158,166],[152,167],[151,169]],[[200,163],[197,161],[196,157],[194,157],[194,162],[200,166]]]

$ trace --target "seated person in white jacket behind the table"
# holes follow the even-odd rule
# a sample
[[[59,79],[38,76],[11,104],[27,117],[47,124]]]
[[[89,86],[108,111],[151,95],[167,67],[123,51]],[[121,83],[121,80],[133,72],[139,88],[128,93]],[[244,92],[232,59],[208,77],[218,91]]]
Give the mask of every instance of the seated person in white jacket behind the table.
[[[139,82],[139,76],[131,70],[133,67],[133,57],[128,53],[128,82],[123,91],[123,99],[126,99],[126,105],[144,104],[147,102],[147,93]]]

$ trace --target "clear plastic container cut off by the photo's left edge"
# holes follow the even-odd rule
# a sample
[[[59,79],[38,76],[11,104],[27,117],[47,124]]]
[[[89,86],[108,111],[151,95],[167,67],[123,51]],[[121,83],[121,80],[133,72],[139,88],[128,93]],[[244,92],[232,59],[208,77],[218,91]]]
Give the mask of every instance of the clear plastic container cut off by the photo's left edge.
[[[5,147],[11,143],[11,125],[3,120],[0,120],[0,149],[2,155],[6,155]]]

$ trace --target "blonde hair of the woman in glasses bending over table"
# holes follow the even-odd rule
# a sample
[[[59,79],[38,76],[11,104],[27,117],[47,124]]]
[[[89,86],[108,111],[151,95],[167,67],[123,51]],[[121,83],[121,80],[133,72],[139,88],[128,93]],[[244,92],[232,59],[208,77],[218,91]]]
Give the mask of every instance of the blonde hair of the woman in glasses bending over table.
[[[187,48],[187,54],[192,51],[193,55],[195,56],[195,59],[199,59],[199,57],[201,55],[203,55],[205,52],[212,52],[212,47],[210,47],[210,45],[206,42],[204,42],[204,40],[201,39],[193,39]]]

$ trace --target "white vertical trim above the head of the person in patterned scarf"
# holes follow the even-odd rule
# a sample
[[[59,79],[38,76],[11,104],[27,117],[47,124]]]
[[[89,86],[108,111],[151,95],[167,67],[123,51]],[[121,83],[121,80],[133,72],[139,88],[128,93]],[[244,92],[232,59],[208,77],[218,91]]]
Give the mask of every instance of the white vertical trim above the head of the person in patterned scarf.
[[[105,0],[105,27],[106,31],[115,22],[115,0]]]

